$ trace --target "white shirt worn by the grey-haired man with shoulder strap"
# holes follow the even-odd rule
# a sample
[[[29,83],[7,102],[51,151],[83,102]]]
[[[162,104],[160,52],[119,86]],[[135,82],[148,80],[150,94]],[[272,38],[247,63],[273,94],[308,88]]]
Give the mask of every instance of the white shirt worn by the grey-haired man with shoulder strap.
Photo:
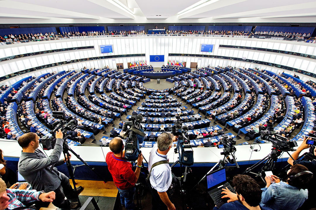
[[[150,171],[151,166],[159,161],[168,160],[167,155],[162,155],[157,151],[157,144],[154,145],[150,151],[148,170]],[[166,192],[172,182],[171,167],[169,164],[160,164],[153,167],[149,178],[151,186],[158,192]]]

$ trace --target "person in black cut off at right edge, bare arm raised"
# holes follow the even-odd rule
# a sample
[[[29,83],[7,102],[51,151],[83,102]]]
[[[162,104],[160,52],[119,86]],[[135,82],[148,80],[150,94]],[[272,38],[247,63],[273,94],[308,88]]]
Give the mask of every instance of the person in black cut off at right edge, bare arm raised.
[[[296,149],[296,151],[293,152],[292,157],[296,161],[297,164],[301,164],[308,168],[311,172],[316,174],[316,160],[313,161],[307,161],[307,160],[297,160],[300,156],[301,151],[310,148],[311,145],[306,144],[306,141],[308,140],[308,137],[304,139],[302,144]],[[313,150],[314,155],[316,156],[316,148]],[[291,157],[288,159],[288,163],[290,165],[295,165],[295,162]],[[304,202],[304,204],[300,207],[300,209],[310,209],[316,206],[315,202],[315,196],[316,196],[316,180],[315,177],[313,179],[312,184],[307,188],[308,189],[308,199]]]

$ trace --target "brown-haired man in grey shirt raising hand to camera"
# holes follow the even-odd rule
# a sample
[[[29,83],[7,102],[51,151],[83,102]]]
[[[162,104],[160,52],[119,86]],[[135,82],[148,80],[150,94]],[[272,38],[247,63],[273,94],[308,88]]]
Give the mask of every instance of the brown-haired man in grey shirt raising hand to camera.
[[[52,202],[59,208],[76,209],[77,202],[68,200],[83,190],[81,186],[77,187],[77,192],[72,189],[68,177],[58,172],[57,168],[52,165],[59,166],[65,163],[65,158],[59,160],[63,150],[63,133],[59,129],[56,131],[56,144],[50,156],[46,155],[39,149],[39,137],[36,133],[23,134],[18,143],[22,147],[18,169],[20,174],[30,183],[35,190],[44,190],[45,192],[54,191],[56,199]],[[71,156],[70,156],[71,157]],[[70,158],[69,157],[69,158]],[[68,158],[68,157],[66,157]],[[65,200],[65,195],[68,198]]]

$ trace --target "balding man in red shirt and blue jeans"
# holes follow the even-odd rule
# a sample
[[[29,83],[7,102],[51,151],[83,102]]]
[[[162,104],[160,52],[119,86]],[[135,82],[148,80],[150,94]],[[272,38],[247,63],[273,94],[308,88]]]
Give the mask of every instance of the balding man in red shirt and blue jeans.
[[[110,141],[110,150],[106,154],[106,164],[112,175],[114,184],[119,190],[120,200],[126,209],[134,209],[135,183],[139,178],[140,168],[143,162],[143,155],[140,154],[137,159],[135,172],[132,171],[132,164],[125,159],[125,150],[123,141],[115,137]]]

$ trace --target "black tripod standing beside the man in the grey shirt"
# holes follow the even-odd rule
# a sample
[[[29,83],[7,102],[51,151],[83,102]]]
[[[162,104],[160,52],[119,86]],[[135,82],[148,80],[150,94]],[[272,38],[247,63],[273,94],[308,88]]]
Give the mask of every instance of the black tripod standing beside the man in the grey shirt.
[[[68,137],[65,137],[65,139],[67,139]],[[103,179],[96,171],[93,167],[89,166],[87,162],[85,162],[78,154],[76,154],[76,152],[74,150],[72,150],[68,144],[67,144],[67,141],[64,140],[64,143],[63,143],[63,153],[64,153],[64,157],[65,157],[65,160],[66,160],[66,166],[67,166],[67,169],[68,169],[68,173],[69,173],[69,178],[72,180],[72,184],[74,186],[74,193],[76,194],[76,198],[78,200],[78,204],[81,206],[80,204],[80,200],[79,200],[79,196],[78,196],[78,193],[77,193],[77,188],[76,188],[76,182],[75,182],[75,175],[74,175],[74,172],[75,172],[75,169],[76,167],[72,167],[71,165],[71,162],[70,162],[70,153],[71,152],[73,155],[75,155],[82,163],[83,165],[86,165],[91,171],[93,171],[97,176],[99,176],[100,179],[102,179],[104,181],[104,183],[106,183],[105,179]],[[66,158],[67,157],[67,158]],[[80,165],[81,166],[81,165]],[[72,168],[74,168],[74,170],[72,171]]]

